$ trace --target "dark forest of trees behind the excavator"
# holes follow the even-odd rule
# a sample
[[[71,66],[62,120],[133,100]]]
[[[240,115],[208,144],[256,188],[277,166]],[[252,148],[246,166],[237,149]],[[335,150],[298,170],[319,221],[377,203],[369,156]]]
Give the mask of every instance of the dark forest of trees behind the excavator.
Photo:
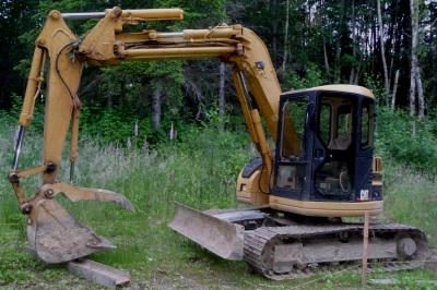
[[[24,95],[34,41],[49,10],[101,12],[115,5],[185,10],[184,21],[147,22],[139,29],[206,28],[222,22],[251,28],[267,44],[283,90],[359,84],[374,90],[380,111],[406,110],[409,121],[436,114],[435,0],[2,0],[0,109],[10,111]],[[69,25],[81,36],[96,21]],[[80,90],[82,133],[126,146],[137,123],[141,145],[146,140],[153,146],[168,137],[172,122],[179,140],[187,124],[211,113],[228,129],[244,126],[228,70],[218,60],[87,68]],[[416,128],[409,122],[405,130]]]

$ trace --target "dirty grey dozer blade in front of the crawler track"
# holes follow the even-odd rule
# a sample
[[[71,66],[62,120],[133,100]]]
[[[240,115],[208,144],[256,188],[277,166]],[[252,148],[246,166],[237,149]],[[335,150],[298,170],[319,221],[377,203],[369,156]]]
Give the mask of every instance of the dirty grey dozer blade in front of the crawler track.
[[[172,229],[226,259],[241,259],[244,227],[175,203]]]

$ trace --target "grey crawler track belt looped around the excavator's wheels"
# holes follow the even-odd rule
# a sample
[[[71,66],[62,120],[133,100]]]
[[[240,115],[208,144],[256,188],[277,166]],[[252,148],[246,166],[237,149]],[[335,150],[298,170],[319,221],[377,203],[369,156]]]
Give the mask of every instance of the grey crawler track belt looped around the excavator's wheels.
[[[287,274],[275,274],[273,270],[268,269],[263,266],[261,262],[261,254],[265,244],[271,239],[296,239],[302,238],[320,238],[323,234],[332,234],[340,231],[359,231],[363,232],[363,223],[343,223],[343,225],[327,225],[327,226],[287,226],[287,227],[265,227],[258,228],[253,231],[248,231],[245,233],[245,249],[244,249],[244,259],[256,271],[261,275],[273,279],[295,279],[300,277],[309,277],[316,274],[333,274],[338,270],[342,270],[346,267],[351,267],[351,262],[335,263],[338,265],[330,265],[329,263],[323,263],[321,266],[310,267],[307,266],[304,269],[293,268],[291,273]],[[376,267],[373,264],[368,264],[368,273],[373,271],[395,271],[405,270],[422,267],[425,263],[427,256],[427,240],[425,234],[417,228],[398,225],[398,223],[382,223],[382,225],[369,225],[369,239],[371,237],[378,237],[380,233],[398,233],[408,232],[415,240],[417,244],[416,254],[412,259],[408,262],[389,262],[389,263],[378,263]],[[361,270],[359,264],[355,262],[355,269]]]

